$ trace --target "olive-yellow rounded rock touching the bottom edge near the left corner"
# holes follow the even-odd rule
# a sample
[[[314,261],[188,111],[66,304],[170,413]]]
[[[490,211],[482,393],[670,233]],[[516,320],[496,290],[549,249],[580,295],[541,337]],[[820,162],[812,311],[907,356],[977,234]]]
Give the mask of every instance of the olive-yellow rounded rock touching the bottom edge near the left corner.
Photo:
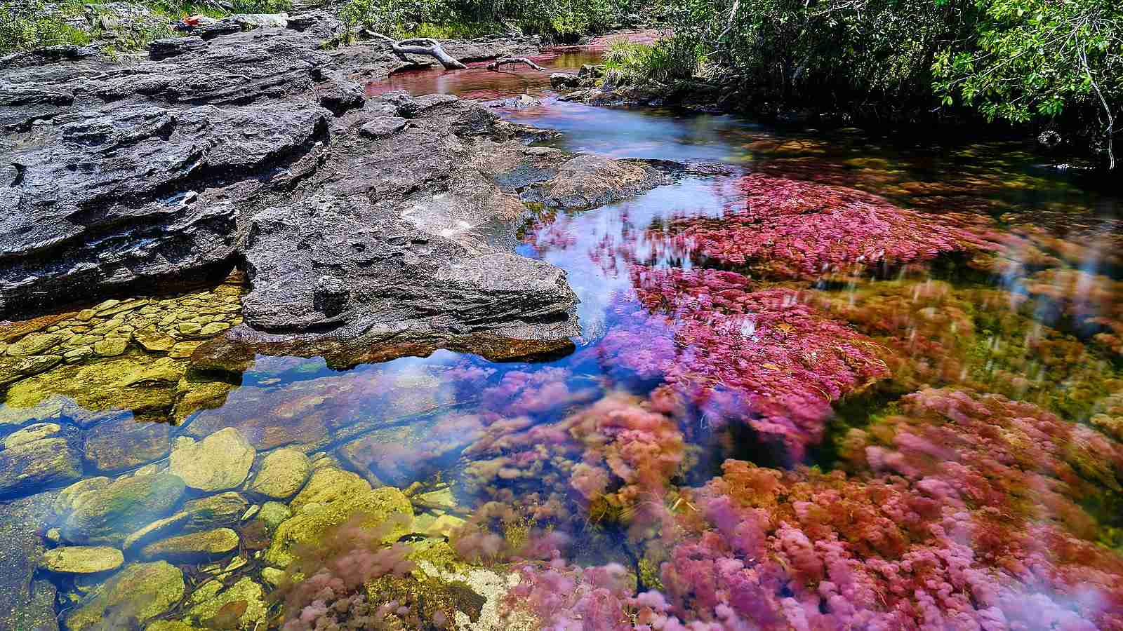
[[[144,623],[167,612],[184,588],[183,573],[166,561],[129,564],[65,615],[66,628],[108,631],[130,618]]]

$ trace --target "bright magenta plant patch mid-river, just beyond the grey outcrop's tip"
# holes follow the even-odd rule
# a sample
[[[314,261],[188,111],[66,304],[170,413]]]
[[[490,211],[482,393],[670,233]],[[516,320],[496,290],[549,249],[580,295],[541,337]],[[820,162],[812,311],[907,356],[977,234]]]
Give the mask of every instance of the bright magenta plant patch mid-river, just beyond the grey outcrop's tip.
[[[606,372],[661,376],[709,422],[747,423],[791,461],[822,439],[834,401],[888,376],[871,339],[802,292],[713,269],[637,266],[632,283],[641,308],[595,350]]]

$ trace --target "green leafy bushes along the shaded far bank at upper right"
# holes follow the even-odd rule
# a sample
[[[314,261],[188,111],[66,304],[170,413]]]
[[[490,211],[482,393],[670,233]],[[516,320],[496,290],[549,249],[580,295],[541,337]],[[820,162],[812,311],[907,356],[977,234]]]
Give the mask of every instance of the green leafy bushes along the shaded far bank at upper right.
[[[705,81],[757,112],[912,122],[976,115],[1115,163],[1115,0],[688,0],[667,16],[673,36],[610,55],[622,76],[670,89]]]

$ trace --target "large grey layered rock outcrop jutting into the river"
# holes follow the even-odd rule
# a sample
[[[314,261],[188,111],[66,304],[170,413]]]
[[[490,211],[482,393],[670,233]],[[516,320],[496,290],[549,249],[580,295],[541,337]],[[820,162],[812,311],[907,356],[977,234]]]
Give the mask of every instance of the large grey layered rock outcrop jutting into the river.
[[[512,254],[523,202],[595,205],[657,174],[544,155],[518,126],[455,97],[366,99],[358,81],[414,62],[377,44],[319,49],[338,27],[292,16],[287,28],[161,40],[128,64],[77,48],[7,58],[0,318],[244,265],[240,344],[328,347],[348,363],[376,345],[564,350],[577,299],[563,271]],[[533,47],[500,37],[446,49],[471,61]],[[579,189],[564,195],[549,182],[562,163]],[[521,172],[539,176],[512,186],[505,175]],[[206,327],[176,333],[219,332]],[[165,331],[131,332],[145,348],[172,348]],[[66,351],[115,357],[127,345]],[[8,354],[13,378],[42,368],[22,350]]]

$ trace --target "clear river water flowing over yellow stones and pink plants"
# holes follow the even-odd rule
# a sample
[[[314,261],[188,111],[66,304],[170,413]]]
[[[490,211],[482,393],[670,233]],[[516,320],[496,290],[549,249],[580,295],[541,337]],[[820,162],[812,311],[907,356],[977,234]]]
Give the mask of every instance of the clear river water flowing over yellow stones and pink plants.
[[[591,58],[570,53],[550,64],[574,68]],[[159,476],[174,448],[184,456],[171,458],[173,472],[195,477],[185,492],[115,495],[152,506],[128,524],[112,512],[102,521],[73,516],[109,502],[99,496],[109,479],[88,483],[81,501],[64,494],[62,504],[54,491],[4,487],[18,497],[9,515],[29,514],[3,529],[20,556],[42,555],[60,538],[125,547],[126,563],[172,560],[185,570],[184,588],[144,593],[141,606],[107,595],[106,585],[133,588],[120,577],[134,566],[84,576],[12,560],[4,582],[34,575],[42,589],[57,589],[56,611],[72,628],[165,618],[255,629],[281,614],[279,603],[259,598],[275,580],[268,566],[283,566],[273,549],[263,552],[277,546],[274,531],[289,510],[279,504],[296,509],[290,524],[311,523],[317,513],[305,504],[344,505],[368,486],[390,485],[410,491],[416,513],[393,538],[409,534],[432,549],[451,537],[460,555],[487,565],[528,537],[540,541],[535,529],[564,533],[565,543],[546,538],[546,557],[558,548],[579,565],[620,564],[632,573],[626,583],[673,601],[672,609],[642,605],[619,596],[627,588],[609,591],[640,616],[674,613],[728,629],[739,628],[734,620],[796,628],[800,615],[851,628],[942,628],[928,603],[949,627],[955,616],[964,624],[1004,616],[1025,629],[1121,623],[1120,198],[1037,166],[1013,143],[940,146],[729,116],[594,109],[555,100],[541,74],[522,71],[405,73],[385,88],[486,99],[526,92],[542,103],[502,116],[560,130],[556,147],[723,168],[528,222],[521,254],[565,269],[581,298],[583,337],[559,359],[493,364],[438,351],[339,372],[320,358],[262,356],[240,375],[221,375],[188,357],[206,327],[238,321],[234,284],[124,311],[107,303],[40,322],[36,332],[9,329],[8,355],[49,351],[65,360],[6,377],[4,467],[47,461],[57,469],[48,486]],[[92,337],[74,342],[72,335]],[[115,353],[113,339],[126,349]],[[58,440],[52,437],[65,440],[36,442]],[[206,449],[191,447],[203,439]],[[24,456],[33,443],[39,450]],[[283,467],[281,457],[263,458],[279,452]],[[727,457],[788,473],[773,481],[737,465],[712,481]],[[861,482],[843,486],[806,464]],[[270,465],[280,473],[266,475]],[[338,469],[362,481],[316,483],[318,495],[305,490],[291,500],[310,469],[313,481],[344,475],[323,473]],[[859,500],[866,495],[873,503]],[[192,512],[185,501],[214,503]],[[886,507],[895,502],[909,509]],[[888,516],[862,521],[876,510]],[[183,511],[189,525],[126,540]],[[748,523],[757,523],[758,541],[748,542]],[[322,524],[305,525],[312,539],[304,542],[325,534]],[[203,555],[150,547],[218,528],[231,528],[236,545]],[[707,541],[707,529],[728,542]],[[1058,543],[1058,533],[1078,543]],[[685,546],[694,546],[691,559],[711,565],[674,560]],[[714,558],[740,565],[730,570]],[[884,565],[902,558],[937,569]],[[876,571],[871,559],[883,564]],[[739,574],[747,565],[773,578]],[[554,567],[576,580],[572,566]],[[707,576],[716,595],[693,591]],[[518,594],[540,616],[577,615],[570,610],[581,603],[541,604],[550,592],[584,597],[557,580],[530,573]],[[749,589],[746,582],[756,591],[738,592]],[[986,592],[988,582],[1001,588]],[[915,596],[925,589],[934,595]],[[599,618],[606,614],[578,613],[601,621],[586,628],[610,628]]]

